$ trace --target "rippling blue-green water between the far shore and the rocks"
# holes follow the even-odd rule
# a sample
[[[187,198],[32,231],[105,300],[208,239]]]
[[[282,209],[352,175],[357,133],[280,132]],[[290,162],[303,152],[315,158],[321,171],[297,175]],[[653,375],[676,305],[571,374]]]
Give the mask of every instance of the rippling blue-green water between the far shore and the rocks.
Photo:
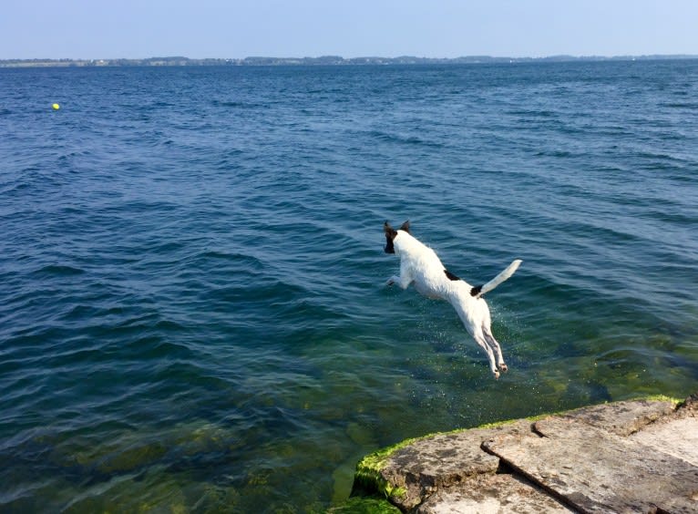
[[[317,511],[405,437],[695,392],[695,98],[696,61],[0,69],[0,509]],[[471,283],[523,259],[500,380],[385,288],[405,219]]]

